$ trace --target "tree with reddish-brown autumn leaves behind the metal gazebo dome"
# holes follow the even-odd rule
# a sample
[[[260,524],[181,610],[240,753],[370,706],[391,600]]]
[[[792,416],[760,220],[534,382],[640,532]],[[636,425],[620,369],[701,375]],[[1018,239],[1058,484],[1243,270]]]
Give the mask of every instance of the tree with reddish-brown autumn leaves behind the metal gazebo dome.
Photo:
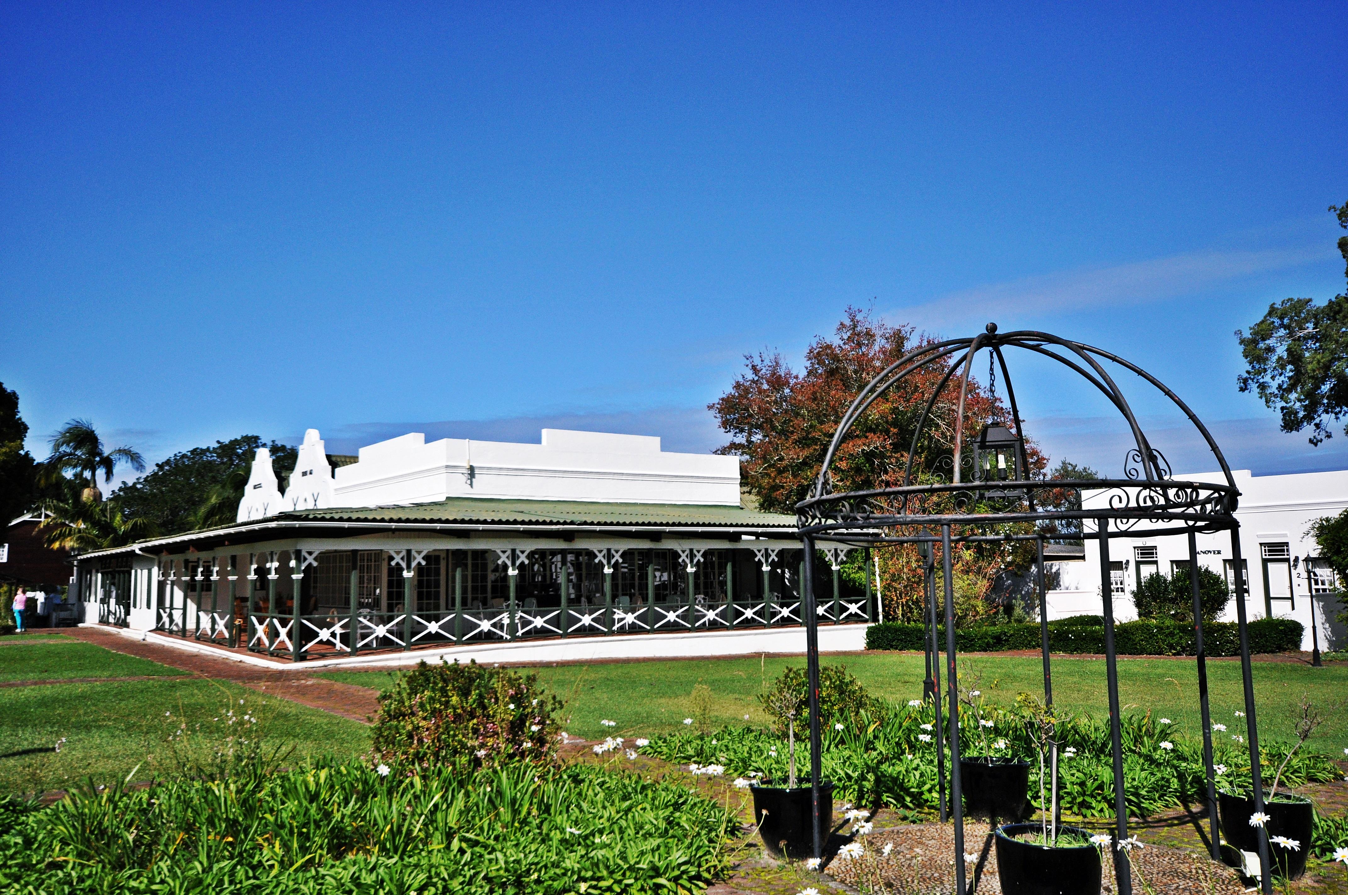
[[[709,410],[731,442],[723,454],[743,458],[743,481],[771,512],[795,512],[809,496],[814,477],[842,414],[861,388],[906,353],[931,344],[911,326],[891,326],[869,310],[848,307],[834,338],[818,337],[797,373],[780,354],[745,356],[747,368]],[[906,376],[869,406],[848,431],[829,470],[834,492],[888,488],[903,484],[903,470],[922,410],[949,369],[937,361]],[[917,442],[914,484],[931,481],[952,461],[960,398],[958,376],[942,390]],[[975,377],[964,410],[964,443],[977,437],[985,422],[1010,414]],[[1030,466],[1042,470],[1043,456],[1027,445]],[[983,601],[998,570],[1019,565],[1024,551],[1000,545],[960,546],[952,554],[960,616],[975,620],[993,608]],[[922,617],[922,563],[913,546],[879,551],[880,588],[887,619]]]

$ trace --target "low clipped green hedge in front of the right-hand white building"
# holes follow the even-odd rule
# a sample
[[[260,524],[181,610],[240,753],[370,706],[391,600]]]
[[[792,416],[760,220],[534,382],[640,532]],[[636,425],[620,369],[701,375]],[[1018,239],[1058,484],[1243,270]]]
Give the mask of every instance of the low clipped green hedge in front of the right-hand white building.
[[[1049,623],[1049,648],[1054,652],[1104,652],[1104,625]],[[1208,655],[1239,655],[1240,635],[1235,621],[1209,621],[1202,627]],[[1302,627],[1291,619],[1259,619],[1250,623],[1251,652],[1291,652],[1301,648]],[[865,629],[867,650],[922,650],[922,625],[886,621]],[[1113,627],[1119,655],[1193,655],[1193,628],[1178,621],[1123,621]],[[945,628],[940,631],[945,647]],[[989,624],[960,628],[954,643],[962,652],[1038,650],[1038,624]]]

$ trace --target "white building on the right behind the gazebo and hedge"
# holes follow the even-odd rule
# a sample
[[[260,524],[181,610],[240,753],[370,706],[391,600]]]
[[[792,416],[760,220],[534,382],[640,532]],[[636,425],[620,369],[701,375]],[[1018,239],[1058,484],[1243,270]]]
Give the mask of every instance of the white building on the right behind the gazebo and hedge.
[[[1348,507],[1348,470],[1254,476],[1248,469],[1233,470],[1240,489],[1236,519],[1240,522],[1240,554],[1247,580],[1250,619],[1268,616],[1295,619],[1306,629],[1302,648],[1312,647],[1312,607],[1320,632],[1320,648],[1343,648],[1344,629],[1335,620],[1343,607],[1333,596],[1335,574],[1317,557],[1310,523],[1333,516]],[[1181,481],[1224,483],[1221,473],[1175,476]],[[1108,495],[1085,492],[1082,508],[1104,505]],[[1093,530],[1093,528],[1092,528]],[[1231,534],[1197,535],[1198,562],[1233,582]],[[1185,535],[1130,538],[1127,531],[1109,534],[1109,586],[1115,597],[1115,617],[1136,619],[1132,597],[1150,574],[1171,574],[1189,563]],[[1085,542],[1084,561],[1050,563],[1049,617],[1099,615],[1100,546]],[[1227,605],[1223,620],[1235,620],[1235,603]]]

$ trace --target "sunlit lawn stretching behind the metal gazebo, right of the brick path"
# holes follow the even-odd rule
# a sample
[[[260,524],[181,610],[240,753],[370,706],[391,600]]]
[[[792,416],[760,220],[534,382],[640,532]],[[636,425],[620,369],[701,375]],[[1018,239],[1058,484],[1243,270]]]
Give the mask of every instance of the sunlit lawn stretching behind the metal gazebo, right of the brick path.
[[[874,693],[906,701],[922,696],[921,655],[878,652],[825,662],[845,665]],[[630,662],[590,666],[530,669],[561,698],[566,729],[586,739],[607,733],[600,720],[617,721],[623,735],[662,733],[678,728],[690,714],[689,694],[698,682],[714,697],[718,722],[764,718],[758,694],[764,682],[795,659],[700,659],[678,662]],[[1043,671],[1037,658],[961,658],[960,673],[980,678],[979,687],[992,700],[1012,702],[1020,690],[1042,693]],[[1348,747],[1348,667],[1312,669],[1304,665],[1256,662],[1255,693],[1259,729],[1264,739],[1289,739],[1293,716],[1306,694],[1326,717],[1310,741],[1312,748],[1343,755]],[[1108,713],[1103,659],[1055,658],[1054,698],[1070,712]],[[388,671],[334,671],[324,677],[346,683],[383,689],[392,681]],[[1227,724],[1227,736],[1240,732],[1244,721],[1235,717],[1243,708],[1240,665],[1208,663],[1209,694],[1215,721]],[[1193,659],[1120,659],[1119,696],[1124,709],[1146,710],[1169,717],[1189,733],[1198,731],[1198,689]]]

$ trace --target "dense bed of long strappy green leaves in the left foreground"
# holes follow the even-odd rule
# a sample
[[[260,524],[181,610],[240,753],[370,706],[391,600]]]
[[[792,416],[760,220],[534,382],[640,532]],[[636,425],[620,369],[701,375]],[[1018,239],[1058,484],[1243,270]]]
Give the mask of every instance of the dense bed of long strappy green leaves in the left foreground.
[[[0,891],[679,892],[736,826],[686,787],[580,766],[380,775],[360,763],[0,803]]]

